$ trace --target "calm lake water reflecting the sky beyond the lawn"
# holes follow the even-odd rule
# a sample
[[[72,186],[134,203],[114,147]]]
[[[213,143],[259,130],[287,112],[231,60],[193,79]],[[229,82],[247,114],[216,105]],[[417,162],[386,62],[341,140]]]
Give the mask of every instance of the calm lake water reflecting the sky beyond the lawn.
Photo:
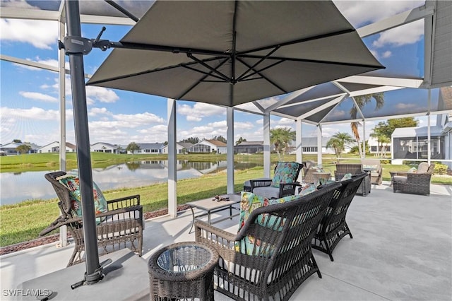
[[[141,187],[167,182],[167,160],[139,161],[111,165],[105,169],[94,169],[93,180],[102,190],[124,187]],[[254,163],[236,163],[236,170],[256,166]],[[177,179],[201,177],[226,170],[226,161],[194,162],[177,161]],[[12,204],[30,199],[52,199],[57,197],[52,185],[44,175],[48,172],[1,172],[0,204]]]

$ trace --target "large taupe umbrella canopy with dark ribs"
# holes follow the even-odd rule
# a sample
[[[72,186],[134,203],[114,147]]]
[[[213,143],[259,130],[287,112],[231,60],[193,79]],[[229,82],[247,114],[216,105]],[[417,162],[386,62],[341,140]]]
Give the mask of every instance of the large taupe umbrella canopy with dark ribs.
[[[112,47],[88,85],[229,107],[383,68],[331,1],[155,1]]]

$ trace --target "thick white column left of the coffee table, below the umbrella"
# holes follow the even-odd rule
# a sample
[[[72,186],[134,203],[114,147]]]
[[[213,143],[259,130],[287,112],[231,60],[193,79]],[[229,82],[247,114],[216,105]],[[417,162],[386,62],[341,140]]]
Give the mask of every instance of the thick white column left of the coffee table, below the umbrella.
[[[176,174],[176,100],[167,100],[168,116],[168,214],[177,216],[177,174]]]

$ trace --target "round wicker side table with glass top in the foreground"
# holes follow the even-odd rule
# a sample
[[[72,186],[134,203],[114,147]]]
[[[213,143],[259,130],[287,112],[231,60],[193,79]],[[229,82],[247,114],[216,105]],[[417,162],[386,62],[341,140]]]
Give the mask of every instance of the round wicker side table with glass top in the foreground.
[[[148,261],[150,300],[213,300],[218,252],[206,244],[179,242],[159,249]]]

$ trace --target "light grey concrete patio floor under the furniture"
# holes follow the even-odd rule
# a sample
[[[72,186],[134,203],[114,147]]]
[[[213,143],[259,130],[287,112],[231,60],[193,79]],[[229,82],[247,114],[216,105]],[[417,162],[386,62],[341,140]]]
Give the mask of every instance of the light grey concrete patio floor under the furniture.
[[[323,278],[309,277],[291,300],[452,300],[452,187],[432,185],[430,196],[417,196],[394,194],[388,184],[355,196],[347,213],[354,238],[343,238],[333,262],[314,249]],[[143,265],[162,246],[194,240],[190,225],[191,211],[147,220]],[[237,218],[215,226],[235,232]],[[72,250],[48,244],[0,256],[0,300],[8,300],[5,290],[65,268]],[[215,300],[230,298],[215,292]]]

